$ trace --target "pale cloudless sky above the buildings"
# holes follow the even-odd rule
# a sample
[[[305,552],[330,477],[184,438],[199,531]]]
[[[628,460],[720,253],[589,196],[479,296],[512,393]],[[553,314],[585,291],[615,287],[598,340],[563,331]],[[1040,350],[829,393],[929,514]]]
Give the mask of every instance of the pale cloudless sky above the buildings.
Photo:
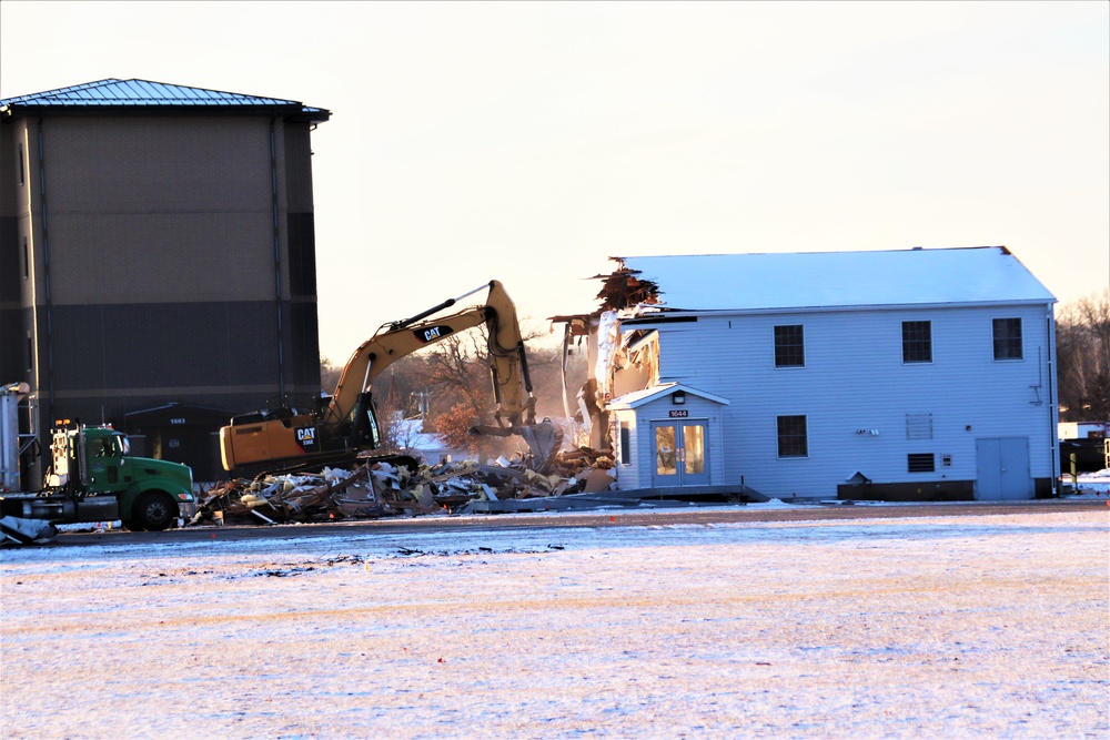
[[[0,98],[104,78],[332,111],[334,361],[491,278],[586,313],[616,255],[1001,244],[1110,285],[1099,0],[0,2]]]

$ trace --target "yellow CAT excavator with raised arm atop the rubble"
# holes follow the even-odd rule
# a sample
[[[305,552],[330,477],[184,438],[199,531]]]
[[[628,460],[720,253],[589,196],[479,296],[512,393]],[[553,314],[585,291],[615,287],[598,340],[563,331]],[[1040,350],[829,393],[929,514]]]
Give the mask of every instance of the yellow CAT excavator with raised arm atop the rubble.
[[[485,304],[434,317],[486,287],[490,293]],[[220,429],[224,469],[291,470],[311,465],[339,465],[376,449],[381,436],[370,393],[374,378],[397,359],[482,324],[488,334],[497,426],[475,427],[472,432],[498,436],[518,434],[532,448],[533,466],[546,468],[562,443],[562,433],[549,420],[536,424],[536,399],[532,394],[516,306],[504,286],[498,281],[491,281],[415,316],[383,324],[351,355],[335,392],[322,396],[316,409],[301,413],[282,407],[233,417],[230,425]]]

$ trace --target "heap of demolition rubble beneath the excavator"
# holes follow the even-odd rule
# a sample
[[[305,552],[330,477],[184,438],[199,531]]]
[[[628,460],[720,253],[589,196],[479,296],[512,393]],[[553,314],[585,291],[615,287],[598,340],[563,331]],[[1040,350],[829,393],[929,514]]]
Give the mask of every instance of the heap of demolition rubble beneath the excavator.
[[[464,460],[420,465],[413,470],[365,460],[352,468],[230,480],[205,491],[189,524],[313,523],[451,514],[467,510],[472,501],[601,493],[608,490],[614,480],[609,452],[588,447],[564,450],[539,470],[531,463],[519,456],[500,457],[488,464]]]

